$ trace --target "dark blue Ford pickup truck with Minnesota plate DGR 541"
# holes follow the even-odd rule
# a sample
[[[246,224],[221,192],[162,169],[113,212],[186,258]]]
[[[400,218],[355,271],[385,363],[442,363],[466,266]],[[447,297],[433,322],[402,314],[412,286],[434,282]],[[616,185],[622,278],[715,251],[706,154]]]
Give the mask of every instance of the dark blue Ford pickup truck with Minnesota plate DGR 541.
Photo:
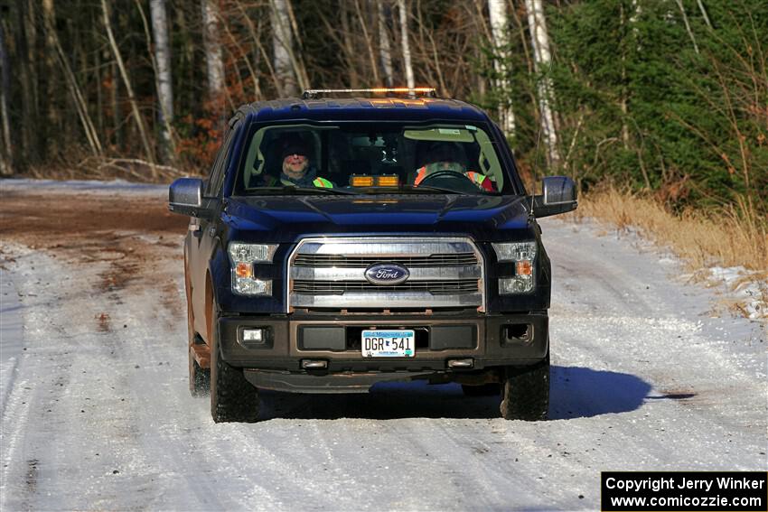
[[[258,420],[259,389],[365,393],[393,380],[501,396],[543,420],[550,264],[529,195],[478,107],[422,97],[304,97],[240,107],[205,180],[173,182],[193,395],[215,422]]]

